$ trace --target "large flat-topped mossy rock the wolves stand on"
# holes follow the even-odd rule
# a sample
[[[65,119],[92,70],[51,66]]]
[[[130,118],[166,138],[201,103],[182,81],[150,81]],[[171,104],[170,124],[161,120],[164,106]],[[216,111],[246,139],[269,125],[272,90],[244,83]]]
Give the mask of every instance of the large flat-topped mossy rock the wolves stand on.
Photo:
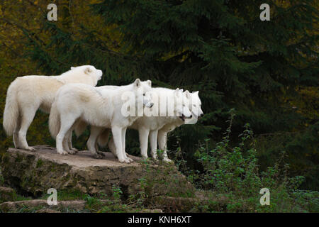
[[[9,148],[1,158],[4,181],[18,192],[35,197],[55,188],[84,194],[113,194],[113,185],[124,196],[192,196],[194,187],[172,163],[154,163],[134,157],[135,162],[120,163],[111,153],[101,160],[87,151],[59,155],[47,145],[35,152]]]

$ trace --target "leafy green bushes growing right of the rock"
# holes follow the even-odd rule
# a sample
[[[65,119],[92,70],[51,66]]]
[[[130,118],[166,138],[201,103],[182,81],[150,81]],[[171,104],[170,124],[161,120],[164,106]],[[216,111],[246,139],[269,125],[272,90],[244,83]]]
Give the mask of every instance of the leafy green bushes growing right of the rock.
[[[249,124],[240,134],[240,143],[230,145],[234,117],[235,112],[231,110],[229,126],[216,148],[210,150],[201,145],[196,150],[198,162],[203,165],[202,172],[187,170],[180,157],[176,160],[179,169],[186,172],[198,188],[211,190],[214,198],[228,198],[228,212],[317,212],[318,192],[298,190],[305,177],[289,177],[285,153],[278,155],[273,166],[259,171],[254,133]],[[262,196],[259,191],[263,188],[269,189],[269,206],[259,203]],[[203,210],[211,211],[209,206]]]

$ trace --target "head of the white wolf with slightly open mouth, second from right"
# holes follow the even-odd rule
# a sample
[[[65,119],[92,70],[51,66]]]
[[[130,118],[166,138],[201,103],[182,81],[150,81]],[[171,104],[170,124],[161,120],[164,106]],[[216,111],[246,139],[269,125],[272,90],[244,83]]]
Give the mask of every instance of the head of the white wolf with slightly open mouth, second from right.
[[[183,95],[183,89],[177,88],[174,91],[175,99],[176,99],[176,112],[177,116],[181,118],[181,121],[185,121],[185,119],[189,119],[192,117],[191,111],[189,111],[189,100],[186,99],[186,96]]]

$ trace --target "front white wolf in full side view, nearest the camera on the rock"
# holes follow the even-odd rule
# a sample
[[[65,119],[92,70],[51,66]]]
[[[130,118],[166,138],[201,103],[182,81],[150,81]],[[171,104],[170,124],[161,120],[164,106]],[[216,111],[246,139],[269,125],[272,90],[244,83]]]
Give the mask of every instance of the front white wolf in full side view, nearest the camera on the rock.
[[[56,138],[57,153],[67,155],[63,149],[65,135],[72,130],[76,121],[84,121],[91,126],[111,128],[120,162],[132,162],[125,153],[125,133],[138,116],[124,116],[123,105],[152,107],[151,81],[141,82],[136,79],[133,84],[117,89],[97,89],[85,84],[67,84],[57,92],[49,119],[52,137]],[[123,95],[133,94],[134,99],[123,100]],[[93,154],[96,155],[96,154]]]

